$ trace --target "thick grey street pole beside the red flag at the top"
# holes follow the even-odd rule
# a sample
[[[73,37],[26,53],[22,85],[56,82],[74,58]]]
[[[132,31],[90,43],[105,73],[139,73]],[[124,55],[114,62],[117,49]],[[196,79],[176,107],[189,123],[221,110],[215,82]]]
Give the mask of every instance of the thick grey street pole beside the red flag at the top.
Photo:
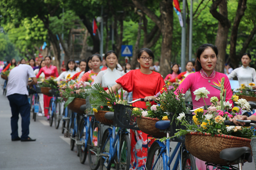
[[[185,71],[185,60],[186,60],[186,1],[183,0],[183,9],[182,9],[182,20],[183,27],[181,33],[181,71]]]

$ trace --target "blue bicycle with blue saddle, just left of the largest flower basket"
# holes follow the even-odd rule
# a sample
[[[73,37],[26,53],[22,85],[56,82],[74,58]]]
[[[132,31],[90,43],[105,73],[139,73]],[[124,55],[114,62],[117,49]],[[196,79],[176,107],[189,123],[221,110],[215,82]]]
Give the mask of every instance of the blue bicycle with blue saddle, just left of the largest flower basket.
[[[172,116],[173,114],[170,113],[170,120],[172,119]],[[192,121],[192,116],[192,114],[186,114],[188,122]],[[176,122],[173,122],[172,125],[170,125],[170,121],[158,121],[155,126],[164,131],[166,137],[170,137],[170,135],[173,136],[174,133],[176,133],[176,129],[182,128],[181,125],[176,125]],[[170,154],[170,151],[172,150],[170,148],[171,141],[178,142],[173,149],[172,154]],[[159,140],[154,141],[148,151],[146,162],[147,170],[170,170],[172,163],[174,164],[172,170],[196,170],[194,156],[186,150],[184,142],[185,137],[167,139],[165,143],[160,142]],[[175,156],[176,160],[174,160]]]

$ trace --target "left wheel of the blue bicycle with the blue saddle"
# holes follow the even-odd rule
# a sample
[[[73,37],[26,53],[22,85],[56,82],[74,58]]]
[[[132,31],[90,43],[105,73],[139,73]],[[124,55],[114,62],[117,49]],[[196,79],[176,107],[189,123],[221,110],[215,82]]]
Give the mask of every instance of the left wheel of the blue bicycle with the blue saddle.
[[[157,142],[154,142],[149,151],[148,151],[148,158],[146,162],[146,168],[147,170],[164,170],[164,161],[162,155],[158,158],[160,154],[160,145]]]

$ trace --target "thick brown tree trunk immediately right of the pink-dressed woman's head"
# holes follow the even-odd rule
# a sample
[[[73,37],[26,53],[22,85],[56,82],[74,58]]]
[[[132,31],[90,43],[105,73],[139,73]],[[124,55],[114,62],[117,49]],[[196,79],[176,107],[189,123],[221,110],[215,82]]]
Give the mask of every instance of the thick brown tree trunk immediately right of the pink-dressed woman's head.
[[[219,12],[217,8],[219,6]],[[230,20],[228,20],[228,8],[226,0],[215,0],[212,2],[210,13],[219,21],[218,32],[216,35],[215,45],[218,47],[218,72],[224,72],[226,47],[228,42],[228,30],[230,28]]]

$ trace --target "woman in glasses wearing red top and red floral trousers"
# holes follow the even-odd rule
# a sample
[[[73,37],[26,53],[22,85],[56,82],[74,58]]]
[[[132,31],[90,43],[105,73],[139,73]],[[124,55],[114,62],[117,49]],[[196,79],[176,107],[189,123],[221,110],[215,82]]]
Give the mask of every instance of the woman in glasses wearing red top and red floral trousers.
[[[154,61],[154,54],[150,49],[140,49],[137,61],[140,63],[140,69],[130,70],[130,72],[116,80],[118,84],[112,86],[112,89],[114,92],[116,88],[123,88],[127,92],[133,91],[133,98],[145,98],[145,100],[156,99],[154,95],[163,88],[165,83],[161,74],[149,69]],[[108,90],[107,92],[109,93]],[[145,102],[135,102],[132,106],[146,109]],[[148,156],[147,144],[146,133],[131,130],[132,156],[130,170],[145,169],[146,158]]]

